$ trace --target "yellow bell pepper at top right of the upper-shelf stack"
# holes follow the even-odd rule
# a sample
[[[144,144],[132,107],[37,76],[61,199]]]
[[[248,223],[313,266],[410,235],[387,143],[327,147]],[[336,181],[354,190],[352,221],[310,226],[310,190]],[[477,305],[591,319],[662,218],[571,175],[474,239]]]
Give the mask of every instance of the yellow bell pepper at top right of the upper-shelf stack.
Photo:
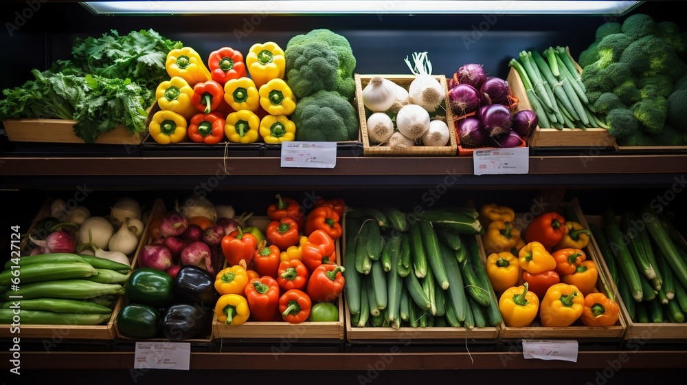
[[[286,69],[284,50],[275,42],[256,43],[246,55],[246,67],[260,89],[272,79],[283,79]]]

